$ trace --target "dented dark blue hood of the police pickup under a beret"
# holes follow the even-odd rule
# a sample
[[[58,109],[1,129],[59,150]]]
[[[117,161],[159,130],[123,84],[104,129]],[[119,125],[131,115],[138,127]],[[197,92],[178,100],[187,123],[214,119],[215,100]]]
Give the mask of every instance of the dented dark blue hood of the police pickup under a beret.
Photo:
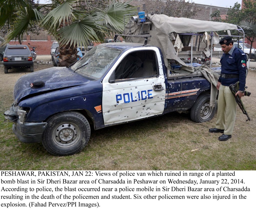
[[[45,85],[39,88],[31,88],[30,84],[37,81],[42,81]],[[22,98],[27,98],[29,95],[33,97],[45,92],[84,85],[89,82],[90,80],[74,73],[67,67],[47,68],[20,77],[14,86],[13,99],[16,103],[19,103]]]

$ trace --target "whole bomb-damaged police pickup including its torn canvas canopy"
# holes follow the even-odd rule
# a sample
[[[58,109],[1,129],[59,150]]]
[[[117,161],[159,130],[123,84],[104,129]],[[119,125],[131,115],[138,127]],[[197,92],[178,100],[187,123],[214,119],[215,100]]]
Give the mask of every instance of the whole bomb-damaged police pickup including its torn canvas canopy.
[[[4,113],[18,139],[42,142],[54,155],[71,155],[87,145],[91,129],[173,111],[190,112],[195,122],[211,120],[217,90],[215,97],[210,95],[214,95],[220,68],[206,67],[204,74],[192,60],[209,53],[213,56],[212,48],[219,41],[215,31],[241,29],[157,14],[142,20],[126,26],[125,42],[95,46],[69,67],[22,76],[14,87],[14,103]],[[205,51],[194,51],[193,35],[202,37]],[[136,37],[145,42],[132,40]],[[183,51],[183,45],[191,51]],[[215,81],[207,75],[215,75]]]

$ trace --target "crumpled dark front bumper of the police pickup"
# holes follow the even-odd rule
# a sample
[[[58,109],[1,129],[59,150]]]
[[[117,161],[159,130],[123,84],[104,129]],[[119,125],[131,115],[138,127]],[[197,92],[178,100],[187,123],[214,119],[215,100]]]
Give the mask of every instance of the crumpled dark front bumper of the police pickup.
[[[5,119],[13,123],[13,132],[24,143],[37,143],[41,141],[47,123],[24,122],[21,123],[14,106],[5,111]]]

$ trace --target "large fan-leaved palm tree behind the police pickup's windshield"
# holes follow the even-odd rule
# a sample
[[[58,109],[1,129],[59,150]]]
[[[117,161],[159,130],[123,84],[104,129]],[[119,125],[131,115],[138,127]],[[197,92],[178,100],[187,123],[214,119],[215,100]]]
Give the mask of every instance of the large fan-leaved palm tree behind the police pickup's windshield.
[[[1,2],[3,0],[0,0]],[[10,2],[14,1],[7,0],[8,4]],[[21,4],[21,2],[26,4]],[[33,8],[31,2],[33,1],[15,1],[19,10],[14,13],[16,18],[12,21],[12,29],[6,35],[5,40],[9,42],[17,36],[22,36],[29,25],[37,21],[39,26],[42,26],[58,40],[60,66],[69,66],[76,61],[77,44],[87,46],[88,40],[103,41],[106,34],[110,34],[112,31],[122,33],[124,21],[127,21],[124,19],[124,15],[135,11],[135,8],[129,5],[131,1],[120,3],[116,0],[99,2],[52,0],[51,4],[37,8]],[[8,9],[12,7],[12,5],[8,6],[3,7],[3,10],[1,6],[1,17],[4,11],[7,14]],[[6,21],[0,20],[0,27]]]

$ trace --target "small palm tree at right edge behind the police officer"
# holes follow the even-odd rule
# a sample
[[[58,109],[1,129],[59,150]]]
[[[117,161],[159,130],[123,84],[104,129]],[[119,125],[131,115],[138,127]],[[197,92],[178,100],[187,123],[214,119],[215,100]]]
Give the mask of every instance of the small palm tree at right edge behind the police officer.
[[[246,38],[250,40],[250,53],[249,53],[249,58],[251,57],[251,51],[252,51],[252,43],[256,41],[256,23],[253,21],[246,21],[242,20],[240,22],[240,27],[244,30],[244,33],[246,35]]]

